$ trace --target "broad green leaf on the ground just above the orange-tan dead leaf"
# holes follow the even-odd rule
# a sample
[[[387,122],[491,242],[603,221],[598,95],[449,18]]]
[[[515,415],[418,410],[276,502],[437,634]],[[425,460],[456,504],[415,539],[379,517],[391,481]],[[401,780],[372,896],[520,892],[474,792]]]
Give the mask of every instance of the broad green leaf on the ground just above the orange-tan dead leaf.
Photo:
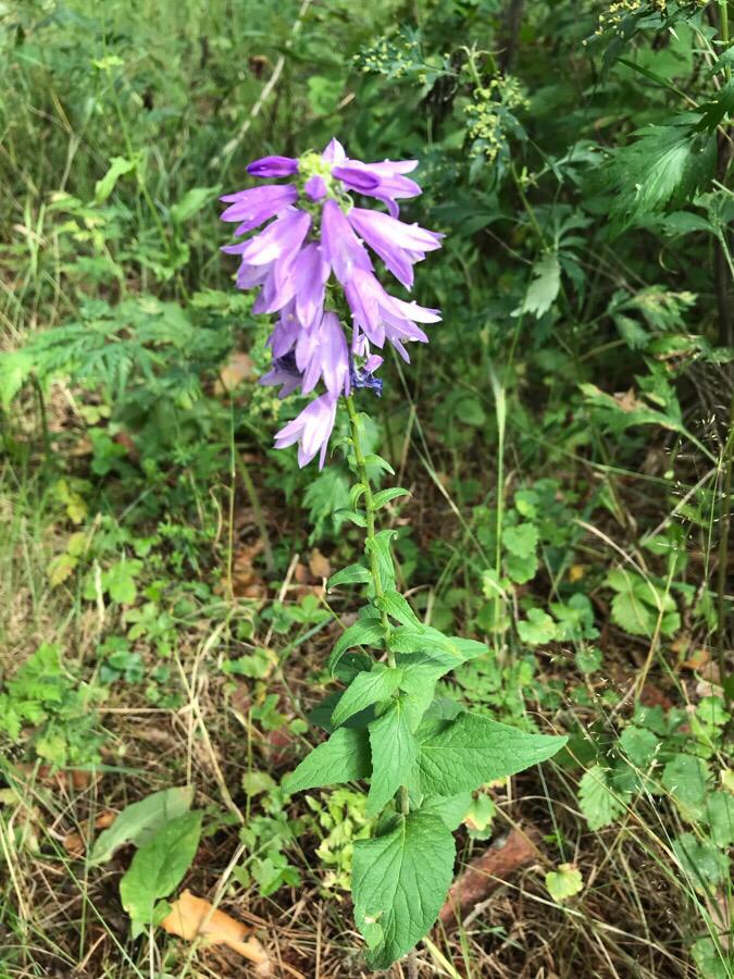
[[[199,846],[201,816],[185,813],[166,822],[133,857],[120,881],[120,897],[134,925],[153,924],[155,902],[184,879]]]

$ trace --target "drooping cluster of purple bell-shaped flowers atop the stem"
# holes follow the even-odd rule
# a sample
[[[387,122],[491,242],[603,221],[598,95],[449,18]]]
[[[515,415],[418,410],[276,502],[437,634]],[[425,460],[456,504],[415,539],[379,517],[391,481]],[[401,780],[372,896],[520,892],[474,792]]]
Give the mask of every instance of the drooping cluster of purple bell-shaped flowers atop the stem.
[[[316,397],[275,436],[277,448],[299,444],[298,462],[306,466],[316,454],[323,467],[334,427],[336,406],[352,387],[382,394],[374,376],[383,358],[372,352],[391,344],[409,360],[406,344],[427,343],[419,323],[436,323],[440,313],[391,296],[375,276],[372,252],[407,289],[413,285],[413,265],[440,248],[443,235],[399,220],[398,201],[421,194],[406,174],[418,161],[385,160],[363,163],[347,157],[332,139],[322,153],[263,157],[247,168],[257,178],[293,178],[286,184],[231,194],[223,221],[253,236],[223,251],[238,255],[237,287],[257,288],[256,313],[277,313],[269,338],[271,370],[261,384],[279,386],[279,397],[300,388]],[[357,207],[352,194],[385,205],[388,213]],[[269,222],[269,223],[266,223]],[[341,287],[351,313],[348,339],[336,312],[325,311],[329,281]]]

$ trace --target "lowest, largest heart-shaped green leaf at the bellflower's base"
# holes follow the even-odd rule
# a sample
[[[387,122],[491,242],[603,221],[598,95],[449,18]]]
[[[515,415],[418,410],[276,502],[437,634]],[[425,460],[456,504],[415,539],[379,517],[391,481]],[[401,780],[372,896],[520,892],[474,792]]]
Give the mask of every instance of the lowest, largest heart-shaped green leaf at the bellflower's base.
[[[370,968],[388,968],[427,933],[451,883],[455,855],[450,831],[420,811],[354,843],[351,892]]]

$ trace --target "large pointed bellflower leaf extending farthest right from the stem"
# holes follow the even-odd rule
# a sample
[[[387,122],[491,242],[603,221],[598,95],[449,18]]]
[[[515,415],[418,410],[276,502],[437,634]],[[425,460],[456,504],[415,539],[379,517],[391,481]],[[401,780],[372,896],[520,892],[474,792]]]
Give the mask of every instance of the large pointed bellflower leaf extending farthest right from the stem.
[[[421,744],[419,769],[426,794],[471,792],[555,755],[567,738],[526,734],[487,717],[462,714]]]

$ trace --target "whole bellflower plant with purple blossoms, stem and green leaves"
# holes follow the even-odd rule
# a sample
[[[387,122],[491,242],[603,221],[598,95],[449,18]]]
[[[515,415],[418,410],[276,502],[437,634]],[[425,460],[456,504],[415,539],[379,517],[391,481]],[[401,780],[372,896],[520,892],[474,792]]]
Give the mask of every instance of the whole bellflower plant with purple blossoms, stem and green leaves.
[[[399,201],[421,193],[408,176],[416,161],[363,163],[333,139],[323,153],[266,157],[248,166],[268,183],[223,200],[237,236],[239,288],[258,288],[253,311],[277,314],[269,345],[271,370],[261,379],[281,397],[315,393],[275,436],[298,443],[298,461],[324,466],[339,404],[349,418],[356,475],[349,519],[365,531],[364,560],[337,572],[329,588],[359,585],[365,600],[336,642],[328,666],[346,685],[331,715],[329,738],[284,782],[288,793],[352,781],[369,782],[370,839],[354,843],[351,891],[368,963],[387,968],[423,938],[438,916],[453,876],[452,832],[471,793],[495,779],[549,758],[561,736],[526,733],[435,698],[437,681],[487,655],[483,643],[424,624],[396,585],[391,530],[377,515],[406,495],[373,488],[370,474],[389,463],[363,449],[364,418],[356,393],[382,393],[376,372],[390,344],[409,361],[410,343],[427,343],[426,324],[440,313],[400,299],[375,274],[380,259],[407,289],[413,265],[440,248],[441,235],[400,221]],[[353,195],[387,213],[358,206]]]

